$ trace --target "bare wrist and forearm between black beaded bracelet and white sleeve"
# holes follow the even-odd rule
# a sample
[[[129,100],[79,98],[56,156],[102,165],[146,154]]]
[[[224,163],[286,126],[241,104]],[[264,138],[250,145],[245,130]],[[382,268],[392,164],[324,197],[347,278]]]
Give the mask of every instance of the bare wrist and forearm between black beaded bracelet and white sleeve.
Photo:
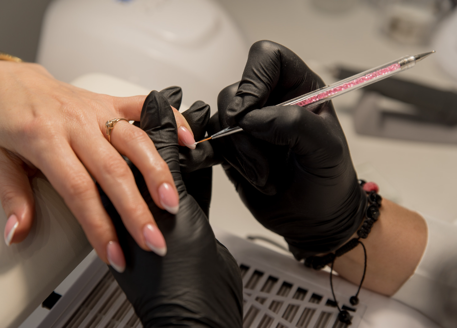
[[[391,296],[414,273],[425,246],[427,225],[416,212],[384,199],[379,220],[367,239],[367,273],[363,287]],[[364,270],[362,246],[335,260],[334,270],[359,284]]]

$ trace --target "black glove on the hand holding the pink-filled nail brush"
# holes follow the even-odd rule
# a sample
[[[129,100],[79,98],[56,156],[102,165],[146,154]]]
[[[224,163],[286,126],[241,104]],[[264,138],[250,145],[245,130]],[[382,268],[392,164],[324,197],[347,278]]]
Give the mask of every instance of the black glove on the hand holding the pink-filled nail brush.
[[[212,146],[228,162],[223,166],[244,204],[284,236],[298,259],[342,246],[366,209],[332,102],[311,111],[271,106],[324,85],[294,52],[259,41],[239,85],[219,94],[219,120],[210,121],[210,134],[227,126],[244,129]]]

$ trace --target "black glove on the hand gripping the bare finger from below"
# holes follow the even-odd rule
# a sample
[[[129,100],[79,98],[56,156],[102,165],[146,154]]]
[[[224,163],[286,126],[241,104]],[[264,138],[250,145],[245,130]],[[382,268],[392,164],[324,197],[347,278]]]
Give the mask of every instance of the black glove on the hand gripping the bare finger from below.
[[[186,118],[195,113],[194,110],[198,111],[198,107],[197,104],[189,109],[191,112]],[[170,168],[180,196],[180,208],[178,214],[172,215],[155,206],[143,176],[129,163],[167,243],[167,254],[160,257],[135,243],[100,190],[126,257],[123,273],[110,267],[113,276],[146,328],[242,327],[242,283],[238,265],[227,248],[215,239],[208,218],[186,191],[179,168],[174,115],[169,102],[157,91],[146,98],[141,128],[151,137]]]

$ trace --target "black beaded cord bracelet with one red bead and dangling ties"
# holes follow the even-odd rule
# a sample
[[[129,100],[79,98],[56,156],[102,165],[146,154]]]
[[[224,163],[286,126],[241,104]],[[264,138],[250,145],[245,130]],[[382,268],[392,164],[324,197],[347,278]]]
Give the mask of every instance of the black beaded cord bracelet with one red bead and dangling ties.
[[[338,319],[340,322],[346,324],[346,325],[351,325],[351,316],[349,312],[346,310],[342,310],[340,306],[338,305],[338,302],[336,301],[335,293],[333,291],[333,282],[332,282],[332,276],[333,276],[333,263],[335,263],[335,259],[337,257],[340,257],[350,250],[354,249],[357,247],[359,244],[362,245],[364,249],[364,273],[362,275],[362,279],[360,280],[359,288],[357,290],[357,293],[354,296],[351,296],[349,299],[349,302],[352,305],[357,305],[359,304],[359,292],[360,289],[362,288],[362,284],[365,279],[365,273],[367,272],[367,249],[365,248],[365,245],[362,243],[360,239],[366,239],[368,237],[368,234],[371,232],[371,228],[375,224],[375,222],[378,220],[380,211],[379,208],[381,207],[381,202],[382,202],[382,197],[378,195],[379,187],[375,182],[365,182],[364,180],[359,180],[359,184],[361,187],[365,190],[367,193],[368,197],[368,207],[367,211],[365,213],[365,221],[362,224],[362,227],[357,231],[357,236],[358,238],[353,238],[333,253],[328,253],[323,256],[309,256],[306,257],[305,259],[305,266],[309,268],[313,268],[315,270],[320,270],[324,268],[326,265],[331,263],[330,266],[330,288],[332,290],[332,295],[333,295],[333,300],[336,304],[336,307],[338,308],[339,314],[338,314]]]

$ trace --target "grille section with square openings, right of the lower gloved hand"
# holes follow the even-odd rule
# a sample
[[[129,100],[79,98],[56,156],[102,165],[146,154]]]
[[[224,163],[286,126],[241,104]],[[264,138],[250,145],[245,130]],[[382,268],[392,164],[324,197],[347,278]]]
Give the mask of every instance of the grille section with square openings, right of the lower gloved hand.
[[[338,320],[338,309],[329,290],[252,260],[243,260],[240,269],[244,286],[243,328],[348,327]],[[341,301],[339,305],[351,314],[351,328],[357,328],[366,306],[353,308]]]

